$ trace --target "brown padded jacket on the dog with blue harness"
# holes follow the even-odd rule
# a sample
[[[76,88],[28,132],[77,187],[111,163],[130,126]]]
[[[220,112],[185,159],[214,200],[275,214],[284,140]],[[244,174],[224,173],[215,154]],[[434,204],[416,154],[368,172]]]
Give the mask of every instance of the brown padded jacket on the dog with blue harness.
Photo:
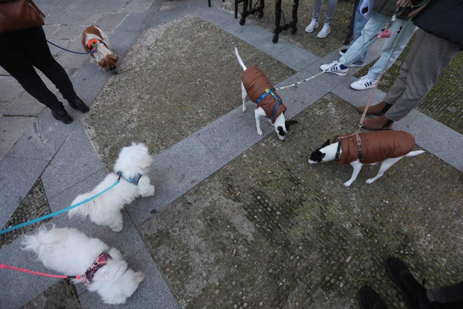
[[[265,93],[265,89],[273,88],[272,84],[270,84],[267,76],[263,74],[262,70],[257,67],[249,67],[243,73],[243,86],[248,93],[248,96],[251,101],[254,103],[260,98],[261,95]],[[282,98],[274,91],[273,94],[278,98],[278,100],[282,101]],[[257,108],[262,107],[265,111],[265,117],[270,118],[273,114],[273,110],[275,109],[275,98],[273,95],[268,94],[262,101],[257,104]],[[276,113],[273,116],[272,124],[275,123],[276,117],[280,114],[284,114],[286,112],[286,106],[283,104],[278,104],[276,108]]]

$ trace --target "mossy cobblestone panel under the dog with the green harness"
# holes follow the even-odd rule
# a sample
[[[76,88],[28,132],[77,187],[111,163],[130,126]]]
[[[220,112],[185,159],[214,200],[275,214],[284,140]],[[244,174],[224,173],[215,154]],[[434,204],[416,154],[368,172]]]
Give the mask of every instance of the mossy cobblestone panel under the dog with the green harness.
[[[139,227],[182,308],[358,308],[363,284],[400,308],[390,255],[429,286],[461,280],[460,172],[424,153],[372,184],[379,167],[364,166],[346,188],[350,165],[307,163],[356,117],[325,95],[285,143],[270,134]]]

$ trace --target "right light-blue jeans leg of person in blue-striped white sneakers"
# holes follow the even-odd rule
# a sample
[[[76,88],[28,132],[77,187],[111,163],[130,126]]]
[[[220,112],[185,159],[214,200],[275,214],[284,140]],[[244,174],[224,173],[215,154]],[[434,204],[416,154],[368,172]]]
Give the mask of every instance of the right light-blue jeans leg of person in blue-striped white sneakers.
[[[397,31],[399,31],[400,26],[402,24],[403,24],[403,21],[399,19],[396,19],[394,23],[392,24],[390,28],[390,30],[392,31],[391,37],[386,39],[382,47],[381,56],[368,71],[368,76],[371,79],[373,80],[378,79],[384,68],[386,68],[384,69],[384,71],[387,71],[392,66],[395,59],[397,59],[397,57],[400,56],[400,53],[402,52],[402,50],[404,50],[408,41],[410,41],[410,38],[412,38],[413,33],[418,29],[417,26],[410,24],[407,30],[405,30],[405,32],[403,32],[402,30],[400,33],[397,33]],[[403,32],[403,36],[399,41],[399,38],[402,35],[402,32]],[[395,41],[394,41],[394,36],[395,36]],[[397,47],[395,47],[396,45]],[[395,47],[395,50],[394,50],[394,47]],[[393,50],[394,52],[392,52]]]

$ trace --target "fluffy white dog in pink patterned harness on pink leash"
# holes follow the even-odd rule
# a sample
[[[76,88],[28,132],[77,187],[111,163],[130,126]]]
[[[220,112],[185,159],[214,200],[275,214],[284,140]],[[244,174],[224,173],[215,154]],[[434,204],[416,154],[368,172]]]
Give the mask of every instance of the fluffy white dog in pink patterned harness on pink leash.
[[[23,250],[38,255],[45,267],[88,285],[88,290],[100,294],[105,303],[125,303],[143,280],[142,272],[127,268],[127,262],[116,248],[109,248],[97,238],[89,238],[75,228],[55,228],[47,231],[43,225],[33,235],[24,237]]]

